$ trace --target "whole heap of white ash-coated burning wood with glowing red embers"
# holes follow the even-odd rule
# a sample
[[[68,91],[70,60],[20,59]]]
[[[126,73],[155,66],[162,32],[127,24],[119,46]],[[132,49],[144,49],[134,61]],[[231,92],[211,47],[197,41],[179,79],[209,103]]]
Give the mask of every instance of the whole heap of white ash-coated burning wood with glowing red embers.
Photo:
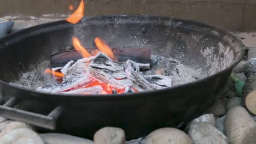
[[[97,94],[99,91],[107,91],[106,93],[143,92],[171,87],[170,76],[144,77],[137,63],[131,60],[115,62],[102,52],[97,56],[79,59],[73,65],[72,63],[72,61],[68,62],[61,69],[63,73],[65,72],[62,83],[46,85],[37,90],[69,94]],[[103,90],[95,86],[101,86]],[[92,92],[92,87],[96,89],[95,92]]]

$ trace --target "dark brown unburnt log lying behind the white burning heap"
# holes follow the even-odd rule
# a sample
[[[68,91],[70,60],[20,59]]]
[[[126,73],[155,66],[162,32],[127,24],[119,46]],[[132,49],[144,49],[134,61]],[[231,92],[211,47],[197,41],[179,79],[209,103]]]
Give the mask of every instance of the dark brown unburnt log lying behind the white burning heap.
[[[95,49],[87,49],[88,52],[93,53]],[[128,59],[136,62],[140,69],[150,69],[150,49],[149,48],[125,48],[112,49],[115,58],[119,62],[126,62]],[[51,68],[64,67],[70,61],[77,61],[83,58],[76,50],[62,51],[51,55]]]

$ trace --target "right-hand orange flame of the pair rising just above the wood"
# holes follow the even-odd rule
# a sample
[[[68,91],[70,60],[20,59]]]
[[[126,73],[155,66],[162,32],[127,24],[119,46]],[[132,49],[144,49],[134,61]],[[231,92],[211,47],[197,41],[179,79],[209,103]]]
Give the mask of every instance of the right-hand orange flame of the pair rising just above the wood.
[[[114,53],[112,52],[110,47],[106,43],[104,43],[104,41],[102,41],[100,38],[96,37],[95,44],[101,52],[105,53],[111,59],[114,59]]]

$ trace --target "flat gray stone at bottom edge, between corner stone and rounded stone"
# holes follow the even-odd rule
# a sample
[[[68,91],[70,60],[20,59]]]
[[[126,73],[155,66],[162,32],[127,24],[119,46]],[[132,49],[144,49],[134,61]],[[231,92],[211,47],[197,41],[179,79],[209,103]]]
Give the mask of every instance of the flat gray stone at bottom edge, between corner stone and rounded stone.
[[[40,137],[44,140],[46,144],[92,144],[91,140],[82,139],[80,137],[75,137],[65,134],[40,134]]]

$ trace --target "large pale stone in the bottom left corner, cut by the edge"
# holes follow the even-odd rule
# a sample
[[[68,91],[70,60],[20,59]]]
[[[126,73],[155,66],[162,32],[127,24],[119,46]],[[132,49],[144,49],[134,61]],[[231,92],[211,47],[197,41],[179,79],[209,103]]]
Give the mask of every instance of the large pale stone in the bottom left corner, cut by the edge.
[[[30,129],[14,129],[0,137],[0,143],[4,144],[44,144],[37,133]]]

